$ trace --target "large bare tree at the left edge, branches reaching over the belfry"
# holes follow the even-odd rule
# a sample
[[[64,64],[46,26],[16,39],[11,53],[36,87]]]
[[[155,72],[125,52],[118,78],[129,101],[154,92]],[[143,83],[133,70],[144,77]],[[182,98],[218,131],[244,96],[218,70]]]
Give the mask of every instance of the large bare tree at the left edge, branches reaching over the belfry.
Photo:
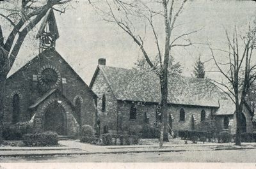
[[[4,86],[8,72],[13,66],[20,47],[29,31],[31,31],[45,16],[49,9],[65,12],[63,4],[72,0],[10,0],[0,2],[0,17],[4,18],[10,27],[2,29],[0,23],[0,122],[3,122]],[[57,8],[55,8],[56,6]],[[3,31],[10,34],[5,38]],[[2,126],[2,125],[1,125]]]

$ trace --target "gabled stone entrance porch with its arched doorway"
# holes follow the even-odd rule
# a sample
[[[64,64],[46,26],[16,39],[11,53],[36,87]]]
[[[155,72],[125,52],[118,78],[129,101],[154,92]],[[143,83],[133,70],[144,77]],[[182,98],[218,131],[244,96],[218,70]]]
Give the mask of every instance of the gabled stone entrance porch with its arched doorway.
[[[58,89],[45,93],[31,105],[35,132],[55,131],[58,135],[79,135],[79,124],[72,103]]]

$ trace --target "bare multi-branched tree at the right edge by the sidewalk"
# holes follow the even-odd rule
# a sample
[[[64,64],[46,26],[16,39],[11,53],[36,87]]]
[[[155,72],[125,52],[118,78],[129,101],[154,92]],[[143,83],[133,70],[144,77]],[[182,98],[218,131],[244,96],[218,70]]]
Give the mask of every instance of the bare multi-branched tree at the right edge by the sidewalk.
[[[216,65],[218,73],[224,77],[225,81],[214,81],[215,84],[222,87],[223,92],[232,99],[236,105],[236,145],[241,145],[241,114],[243,105],[246,101],[246,94],[256,78],[256,63],[253,62],[252,56],[256,45],[256,28],[249,26],[244,36],[237,34],[235,27],[232,38],[225,31],[227,38],[227,48],[218,49],[223,53],[221,58],[226,61],[217,61],[214,50],[210,45],[212,59]]]

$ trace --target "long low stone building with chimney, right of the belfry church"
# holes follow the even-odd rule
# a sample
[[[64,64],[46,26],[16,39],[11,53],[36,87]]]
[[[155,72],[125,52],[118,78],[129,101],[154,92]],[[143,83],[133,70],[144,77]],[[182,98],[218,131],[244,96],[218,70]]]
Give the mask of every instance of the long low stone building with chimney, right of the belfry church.
[[[100,133],[125,131],[129,126],[159,126],[161,92],[155,73],[106,66],[99,59],[90,87],[97,94]],[[235,105],[211,82],[191,77],[168,78],[168,126],[170,131],[192,131],[207,119],[215,119],[218,131],[236,133]],[[247,103],[242,132],[251,132],[253,112]]]

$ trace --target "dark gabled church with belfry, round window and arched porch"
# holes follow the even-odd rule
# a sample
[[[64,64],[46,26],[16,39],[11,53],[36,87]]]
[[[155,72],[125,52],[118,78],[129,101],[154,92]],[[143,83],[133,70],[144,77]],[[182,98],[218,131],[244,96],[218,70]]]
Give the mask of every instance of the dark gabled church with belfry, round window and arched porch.
[[[75,136],[96,121],[97,96],[55,50],[59,38],[52,10],[36,36],[40,54],[6,80],[4,121],[33,123],[34,131]]]

